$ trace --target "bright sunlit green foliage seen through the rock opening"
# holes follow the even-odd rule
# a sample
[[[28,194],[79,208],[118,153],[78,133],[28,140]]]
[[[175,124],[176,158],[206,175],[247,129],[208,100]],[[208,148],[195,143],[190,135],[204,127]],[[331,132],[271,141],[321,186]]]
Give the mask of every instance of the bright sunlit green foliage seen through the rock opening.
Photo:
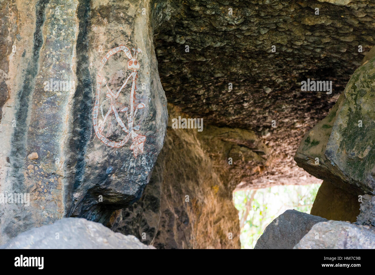
[[[233,201],[239,211],[241,248],[254,248],[264,229],[285,210],[310,213],[320,184],[282,185],[238,190]]]

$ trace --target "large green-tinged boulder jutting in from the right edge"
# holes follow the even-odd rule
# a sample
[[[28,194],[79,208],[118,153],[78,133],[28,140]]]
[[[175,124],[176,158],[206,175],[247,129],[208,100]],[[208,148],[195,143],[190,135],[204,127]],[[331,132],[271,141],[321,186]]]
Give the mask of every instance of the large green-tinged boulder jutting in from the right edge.
[[[375,191],[375,58],[354,71],[329,115],[305,137],[294,157],[315,177]],[[317,162],[318,161],[318,162]]]

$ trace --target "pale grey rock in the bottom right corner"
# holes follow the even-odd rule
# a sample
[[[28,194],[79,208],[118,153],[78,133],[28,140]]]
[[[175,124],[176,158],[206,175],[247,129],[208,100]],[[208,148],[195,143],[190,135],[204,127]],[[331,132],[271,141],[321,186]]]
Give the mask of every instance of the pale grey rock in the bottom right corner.
[[[315,224],[294,249],[374,249],[375,231],[344,221]]]

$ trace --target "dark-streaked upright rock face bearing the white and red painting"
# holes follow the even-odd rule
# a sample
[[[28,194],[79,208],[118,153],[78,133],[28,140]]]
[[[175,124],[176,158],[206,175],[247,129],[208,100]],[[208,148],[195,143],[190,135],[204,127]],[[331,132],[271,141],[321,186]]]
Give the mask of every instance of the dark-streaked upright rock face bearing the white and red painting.
[[[30,195],[0,204],[0,244],[63,217],[105,223],[141,197],[166,131],[150,1],[0,8],[0,193]]]

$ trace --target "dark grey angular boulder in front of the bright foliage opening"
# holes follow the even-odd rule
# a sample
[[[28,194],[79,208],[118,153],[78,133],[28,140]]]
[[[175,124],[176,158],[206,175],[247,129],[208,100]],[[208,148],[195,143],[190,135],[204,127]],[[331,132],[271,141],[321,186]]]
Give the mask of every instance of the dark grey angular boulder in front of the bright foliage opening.
[[[292,249],[314,224],[321,221],[327,219],[287,210],[266,227],[254,249]]]

